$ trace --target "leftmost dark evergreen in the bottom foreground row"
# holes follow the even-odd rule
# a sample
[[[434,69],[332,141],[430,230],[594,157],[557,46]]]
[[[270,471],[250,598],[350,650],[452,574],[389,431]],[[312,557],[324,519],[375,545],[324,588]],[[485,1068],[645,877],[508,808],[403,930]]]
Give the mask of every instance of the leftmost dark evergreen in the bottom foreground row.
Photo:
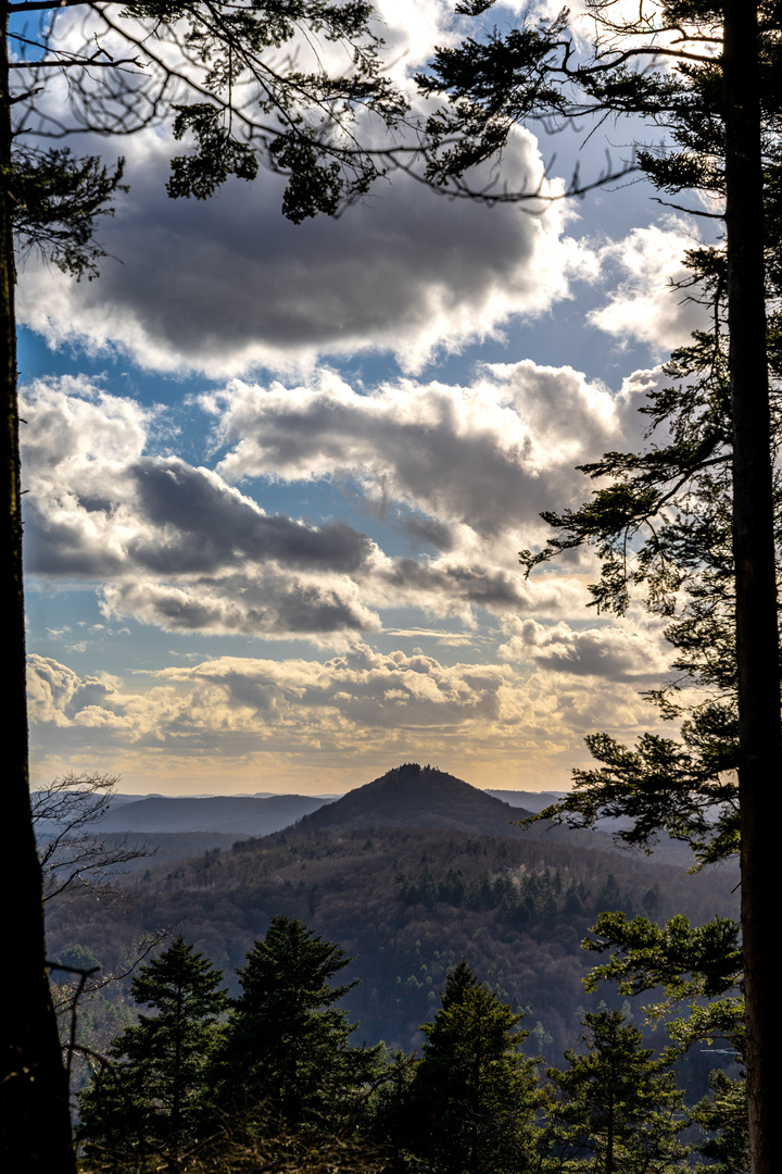
[[[131,984],[135,1001],[157,1013],[114,1040],[110,1067],[101,1067],[80,1095],[80,1138],[97,1161],[168,1153],[204,1132],[211,1088],[208,1065],[229,998],[223,976],[179,936]]]

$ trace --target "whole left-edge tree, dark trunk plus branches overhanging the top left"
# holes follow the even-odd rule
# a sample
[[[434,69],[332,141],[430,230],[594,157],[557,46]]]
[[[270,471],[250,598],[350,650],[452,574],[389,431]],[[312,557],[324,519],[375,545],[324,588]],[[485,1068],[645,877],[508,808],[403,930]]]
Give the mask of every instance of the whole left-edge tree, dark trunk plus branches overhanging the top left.
[[[70,20],[77,9],[79,26]],[[6,618],[6,826],[16,850],[15,889],[27,978],[6,992],[0,1071],[0,1147],[30,1170],[74,1169],[68,1089],[48,991],[41,876],[30,823],[25,680],[22,515],[14,235],[76,276],[101,256],[100,216],[121,188],[114,170],[67,149],[30,146],[72,131],[128,134],[169,121],[188,148],[174,160],[172,196],[208,198],[230,175],[253,178],[259,161],[288,176],[283,210],[299,222],[334,214],[380,174],[358,142],[359,116],[394,124],[406,102],[382,76],[370,5],[331,0],[189,4],[16,0],[0,5],[0,337],[5,356],[0,468],[8,510],[0,538]],[[21,21],[40,19],[38,32]],[[333,72],[320,45],[341,49]],[[311,61],[299,63],[297,48]],[[287,54],[287,55],[286,55]],[[347,65],[347,68],[346,68]],[[68,109],[50,87],[67,79]]]

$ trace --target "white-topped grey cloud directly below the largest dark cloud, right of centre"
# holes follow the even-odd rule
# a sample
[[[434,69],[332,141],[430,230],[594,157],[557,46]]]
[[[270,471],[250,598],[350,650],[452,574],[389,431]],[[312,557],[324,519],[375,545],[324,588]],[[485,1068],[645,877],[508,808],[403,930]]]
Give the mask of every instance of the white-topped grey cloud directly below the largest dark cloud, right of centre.
[[[363,393],[329,372],[293,389],[234,380],[202,403],[229,447],[217,466],[226,480],[349,479],[381,513],[402,502],[428,515],[404,525],[444,551],[538,531],[542,510],[583,499],[574,466],[635,426],[627,399],[526,360],[494,364],[471,386],[401,380]]]

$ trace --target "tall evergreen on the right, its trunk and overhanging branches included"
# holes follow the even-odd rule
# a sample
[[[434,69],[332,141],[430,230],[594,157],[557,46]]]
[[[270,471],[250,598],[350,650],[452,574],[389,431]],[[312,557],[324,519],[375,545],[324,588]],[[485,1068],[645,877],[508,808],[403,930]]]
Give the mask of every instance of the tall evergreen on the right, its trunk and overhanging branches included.
[[[485,29],[491,2],[468,0],[462,11]],[[471,191],[463,178],[502,150],[518,122],[640,115],[667,136],[661,149],[635,156],[658,189],[695,189],[725,202],[725,251],[701,250],[696,258],[715,330],[695,337],[681,385],[650,405],[653,425],[665,424],[673,443],[662,451],[607,453],[587,466],[613,484],[603,481],[580,511],[548,515],[562,537],[539,555],[523,552],[523,561],[529,568],[558,549],[596,546],[605,568],[596,602],[619,610],[627,583],[641,580],[651,606],[671,615],[666,608],[691,578],[688,614],[673,626],[680,667],[688,683],[716,684],[716,696],[693,715],[684,747],[646,735],[634,754],[605,735],[591,740],[605,765],[582,774],[571,810],[587,823],[598,811],[627,814],[637,841],[665,828],[694,839],[702,858],[712,848],[718,856],[740,850],[752,1161],[754,1174],[773,1174],[782,1041],[768,925],[782,726],[778,410],[770,379],[780,375],[782,9],[774,0],[586,0],[585,7],[594,33],[585,53],[571,35],[567,9],[550,23],[530,15],[504,36],[495,29],[437,50],[421,79],[424,92],[448,97],[429,120],[429,176],[458,195],[518,198],[498,188]],[[685,207],[674,207],[685,211],[696,203],[681,200]],[[694,393],[693,359],[707,376]],[[726,782],[728,765],[737,769],[737,788]],[[722,809],[716,828],[714,801]]]

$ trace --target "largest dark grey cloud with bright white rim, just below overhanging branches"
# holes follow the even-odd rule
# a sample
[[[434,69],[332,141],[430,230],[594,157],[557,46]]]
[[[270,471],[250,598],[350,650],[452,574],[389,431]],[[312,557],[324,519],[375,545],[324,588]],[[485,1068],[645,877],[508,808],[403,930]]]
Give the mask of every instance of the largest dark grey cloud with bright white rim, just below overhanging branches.
[[[514,315],[544,313],[580,263],[562,204],[524,216],[394,173],[344,220],[293,225],[273,175],[230,182],[206,203],[169,200],[175,149],[152,131],[122,144],[131,194],[101,228],[117,259],[74,285],[30,258],[21,322],[53,345],[111,345],[163,371],[225,377],[368,348],[415,370],[440,348],[497,337]],[[542,174],[529,133],[514,135],[506,167],[521,182]]]

